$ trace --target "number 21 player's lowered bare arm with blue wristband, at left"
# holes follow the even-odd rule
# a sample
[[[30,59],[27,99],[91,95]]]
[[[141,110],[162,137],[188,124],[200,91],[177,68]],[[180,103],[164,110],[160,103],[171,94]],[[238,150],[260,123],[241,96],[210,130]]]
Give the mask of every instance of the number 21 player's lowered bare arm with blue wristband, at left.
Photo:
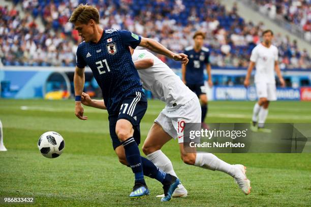
[[[83,87],[84,87],[84,68],[79,68],[76,66],[75,75],[74,75],[74,86],[75,86],[75,95],[81,96]],[[81,120],[86,120],[87,117],[83,116],[84,109],[81,105],[81,101],[76,101],[75,114]]]

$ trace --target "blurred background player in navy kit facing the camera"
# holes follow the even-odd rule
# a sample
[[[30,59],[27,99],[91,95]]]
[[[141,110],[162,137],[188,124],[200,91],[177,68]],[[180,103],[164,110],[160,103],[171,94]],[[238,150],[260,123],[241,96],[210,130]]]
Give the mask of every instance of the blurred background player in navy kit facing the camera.
[[[211,66],[209,63],[209,50],[203,47],[205,34],[196,31],[193,40],[194,46],[186,47],[184,54],[188,55],[189,63],[181,65],[182,81],[197,94],[201,104],[201,123],[203,128],[208,128],[204,120],[208,111],[206,87],[204,85],[204,67],[208,75],[208,85],[212,87]]]

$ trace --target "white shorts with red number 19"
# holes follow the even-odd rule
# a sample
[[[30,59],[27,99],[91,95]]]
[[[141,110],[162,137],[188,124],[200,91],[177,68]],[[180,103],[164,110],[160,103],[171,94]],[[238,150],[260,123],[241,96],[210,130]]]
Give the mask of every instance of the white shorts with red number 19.
[[[162,126],[172,138],[178,137],[178,143],[183,143],[184,123],[201,123],[201,114],[200,101],[194,97],[176,110],[167,110],[165,107],[154,122]]]

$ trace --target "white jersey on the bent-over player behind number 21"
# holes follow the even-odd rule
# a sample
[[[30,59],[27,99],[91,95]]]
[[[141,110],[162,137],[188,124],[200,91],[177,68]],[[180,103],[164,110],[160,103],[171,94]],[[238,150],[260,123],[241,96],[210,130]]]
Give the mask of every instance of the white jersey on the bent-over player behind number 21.
[[[154,62],[150,68],[138,70],[143,87],[151,91],[154,97],[166,102],[167,109],[179,108],[197,96],[158,57],[147,50],[134,50],[133,62],[143,58],[152,58]]]

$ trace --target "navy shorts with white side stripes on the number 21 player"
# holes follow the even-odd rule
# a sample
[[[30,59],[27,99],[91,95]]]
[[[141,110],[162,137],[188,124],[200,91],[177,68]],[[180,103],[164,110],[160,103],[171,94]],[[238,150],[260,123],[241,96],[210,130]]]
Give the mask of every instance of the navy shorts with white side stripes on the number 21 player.
[[[134,128],[134,139],[137,145],[140,144],[140,120],[143,118],[147,110],[147,99],[145,94],[141,91],[136,91],[130,96],[126,97],[120,106],[119,114],[110,114],[109,130],[112,141],[113,150],[121,145],[118,136],[115,133],[115,125],[119,119],[126,119],[130,121]]]

